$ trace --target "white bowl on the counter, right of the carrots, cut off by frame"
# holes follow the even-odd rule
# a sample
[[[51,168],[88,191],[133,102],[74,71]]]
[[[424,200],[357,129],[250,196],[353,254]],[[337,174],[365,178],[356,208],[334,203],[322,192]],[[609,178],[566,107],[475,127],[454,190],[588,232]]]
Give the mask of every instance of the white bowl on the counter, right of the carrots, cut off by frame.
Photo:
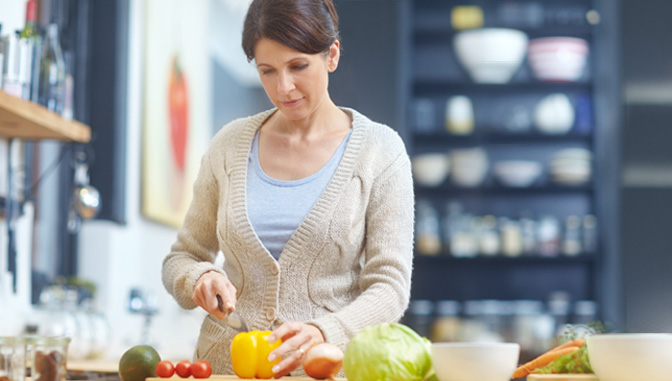
[[[592,335],[587,343],[600,381],[672,381],[672,334]]]

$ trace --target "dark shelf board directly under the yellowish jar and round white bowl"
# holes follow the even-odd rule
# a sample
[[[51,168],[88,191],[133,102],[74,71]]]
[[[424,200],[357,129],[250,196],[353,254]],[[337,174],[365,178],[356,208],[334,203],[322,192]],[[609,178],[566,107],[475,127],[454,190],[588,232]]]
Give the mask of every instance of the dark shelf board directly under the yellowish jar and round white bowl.
[[[592,134],[583,134],[569,132],[562,135],[550,135],[540,132],[527,133],[505,133],[495,132],[493,130],[503,130],[504,127],[476,126],[475,132],[471,135],[451,135],[440,131],[437,126],[437,132],[414,132],[413,139],[420,146],[442,145],[442,146],[471,146],[475,144],[544,144],[544,143],[590,143],[593,140]]]

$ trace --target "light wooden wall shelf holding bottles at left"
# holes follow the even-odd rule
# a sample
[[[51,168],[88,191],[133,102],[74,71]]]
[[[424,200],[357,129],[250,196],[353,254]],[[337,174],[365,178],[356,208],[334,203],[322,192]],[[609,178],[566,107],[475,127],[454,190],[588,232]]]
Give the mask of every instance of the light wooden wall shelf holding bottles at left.
[[[0,137],[86,143],[91,140],[91,128],[0,90]]]

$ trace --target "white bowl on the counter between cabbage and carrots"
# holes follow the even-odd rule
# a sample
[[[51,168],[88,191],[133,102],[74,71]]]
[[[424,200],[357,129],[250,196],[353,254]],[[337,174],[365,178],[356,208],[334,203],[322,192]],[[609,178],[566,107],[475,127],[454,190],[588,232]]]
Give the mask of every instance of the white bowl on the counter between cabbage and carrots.
[[[440,381],[508,381],[519,355],[517,343],[432,344],[432,362]]]

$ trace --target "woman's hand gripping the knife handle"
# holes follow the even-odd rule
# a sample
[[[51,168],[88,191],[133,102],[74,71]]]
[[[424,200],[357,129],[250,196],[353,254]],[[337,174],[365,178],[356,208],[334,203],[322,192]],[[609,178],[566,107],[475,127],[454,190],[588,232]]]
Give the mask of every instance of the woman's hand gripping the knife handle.
[[[191,299],[217,319],[223,320],[226,311],[236,308],[236,287],[224,275],[217,271],[208,271],[196,281]],[[224,311],[217,305],[217,295],[222,297]]]

